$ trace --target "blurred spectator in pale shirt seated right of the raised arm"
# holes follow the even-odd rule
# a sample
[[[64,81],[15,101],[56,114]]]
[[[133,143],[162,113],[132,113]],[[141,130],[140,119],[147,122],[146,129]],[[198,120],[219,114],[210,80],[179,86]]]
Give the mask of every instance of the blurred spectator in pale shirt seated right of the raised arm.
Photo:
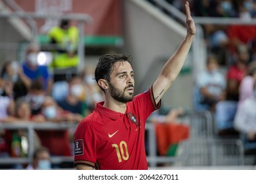
[[[219,63],[216,56],[207,58],[207,69],[196,77],[196,87],[200,90],[200,104],[207,105],[215,111],[215,105],[225,98],[226,80],[219,71]]]

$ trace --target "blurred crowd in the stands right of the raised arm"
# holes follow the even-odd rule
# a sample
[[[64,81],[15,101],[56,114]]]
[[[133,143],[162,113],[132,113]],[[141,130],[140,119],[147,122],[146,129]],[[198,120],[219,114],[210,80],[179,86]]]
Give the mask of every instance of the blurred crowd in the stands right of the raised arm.
[[[186,0],[165,1],[184,12]],[[192,16],[242,22],[256,18],[255,0],[188,1]],[[175,18],[156,1],[150,2]],[[245,151],[256,150],[256,25],[209,23],[202,28],[207,59],[194,81],[194,109],[212,112],[217,135],[241,138]]]

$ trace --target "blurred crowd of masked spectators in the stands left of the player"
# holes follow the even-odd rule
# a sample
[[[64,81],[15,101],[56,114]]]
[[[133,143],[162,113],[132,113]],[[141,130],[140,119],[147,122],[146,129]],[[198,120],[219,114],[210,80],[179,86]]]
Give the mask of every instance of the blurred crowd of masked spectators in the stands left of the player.
[[[80,122],[94,110],[98,101],[103,100],[93,79],[94,68],[85,67],[62,80],[62,86],[58,88],[49,66],[39,65],[39,51],[38,46],[31,44],[22,63],[6,61],[1,66],[0,123]],[[28,144],[27,133],[24,129],[1,129],[0,156],[28,156],[28,150],[24,148],[24,144]],[[73,133],[68,129],[36,130],[34,149],[45,147],[51,156],[72,156]]]

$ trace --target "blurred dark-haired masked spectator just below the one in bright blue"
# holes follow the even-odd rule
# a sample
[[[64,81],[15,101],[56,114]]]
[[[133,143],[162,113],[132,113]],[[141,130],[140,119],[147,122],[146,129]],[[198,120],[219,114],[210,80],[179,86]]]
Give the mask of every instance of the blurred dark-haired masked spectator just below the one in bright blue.
[[[36,115],[41,112],[41,107],[45,99],[45,91],[40,80],[33,80],[28,94],[25,96],[26,101],[30,104],[32,114]]]

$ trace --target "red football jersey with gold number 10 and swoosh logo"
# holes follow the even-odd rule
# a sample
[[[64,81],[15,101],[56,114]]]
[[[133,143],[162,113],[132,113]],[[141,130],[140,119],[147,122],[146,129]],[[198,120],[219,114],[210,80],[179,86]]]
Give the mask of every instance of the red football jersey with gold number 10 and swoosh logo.
[[[75,131],[74,165],[95,169],[148,169],[144,146],[146,118],[156,105],[150,90],[127,103],[125,114],[98,103],[92,114],[83,119]]]

